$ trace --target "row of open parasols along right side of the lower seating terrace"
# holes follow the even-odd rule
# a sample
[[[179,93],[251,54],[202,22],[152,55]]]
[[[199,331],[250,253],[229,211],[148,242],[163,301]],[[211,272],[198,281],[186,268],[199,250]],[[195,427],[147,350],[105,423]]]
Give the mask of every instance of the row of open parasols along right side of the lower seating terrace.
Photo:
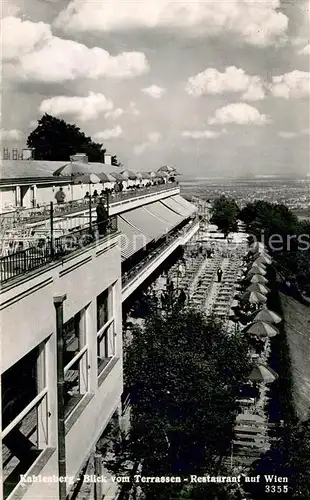
[[[282,321],[282,318],[266,307],[267,294],[270,292],[267,287],[266,266],[271,264],[271,258],[263,243],[257,242],[250,247],[252,263],[247,269],[246,278],[250,278],[250,285],[241,296],[241,302],[250,302],[260,306],[260,310],[255,312],[243,332],[254,335],[260,339],[269,339],[278,335],[279,331],[274,326]],[[277,373],[269,366],[258,363],[252,370],[249,379],[254,383],[270,384],[278,378]]]

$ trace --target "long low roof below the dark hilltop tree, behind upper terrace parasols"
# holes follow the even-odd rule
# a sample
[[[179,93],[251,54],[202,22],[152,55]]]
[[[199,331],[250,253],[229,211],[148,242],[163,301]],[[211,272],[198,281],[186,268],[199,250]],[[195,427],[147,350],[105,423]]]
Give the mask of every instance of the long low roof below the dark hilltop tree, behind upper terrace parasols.
[[[63,165],[67,165],[68,160],[64,161],[44,161],[44,160],[1,160],[0,179],[33,179],[52,177],[53,172]],[[93,169],[93,173],[119,172],[118,167],[106,165],[99,162],[87,163]],[[61,177],[58,177],[60,180]]]

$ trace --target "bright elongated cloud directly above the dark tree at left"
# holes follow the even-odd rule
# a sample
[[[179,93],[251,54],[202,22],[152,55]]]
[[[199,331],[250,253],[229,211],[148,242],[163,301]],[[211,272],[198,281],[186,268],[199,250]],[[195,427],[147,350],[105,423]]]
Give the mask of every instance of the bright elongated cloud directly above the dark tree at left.
[[[86,97],[55,96],[44,99],[39,111],[54,116],[73,116],[81,121],[94,120],[104,112],[113,108],[113,103],[103,94],[89,92]]]

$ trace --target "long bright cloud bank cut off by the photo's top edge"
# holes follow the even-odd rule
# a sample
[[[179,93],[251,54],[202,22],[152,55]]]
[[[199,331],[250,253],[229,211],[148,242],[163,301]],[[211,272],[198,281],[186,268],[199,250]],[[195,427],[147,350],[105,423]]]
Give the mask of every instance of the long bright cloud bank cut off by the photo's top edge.
[[[266,46],[286,34],[288,18],[278,12],[279,7],[280,0],[71,0],[55,26],[73,32],[172,28],[181,29],[184,36],[230,33],[247,43]]]

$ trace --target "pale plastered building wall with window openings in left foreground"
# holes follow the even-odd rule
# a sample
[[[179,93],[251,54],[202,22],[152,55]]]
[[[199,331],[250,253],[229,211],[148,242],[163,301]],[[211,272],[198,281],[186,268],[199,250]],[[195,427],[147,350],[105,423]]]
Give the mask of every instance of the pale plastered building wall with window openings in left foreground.
[[[56,318],[53,296],[67,294],[64,302],[64,321],[87,307],[87,343],[89,391],[93,395],[66,435],[67,475],[75,476],[91,453],[96,441],[120,403],[123,387],[122,369],[122,312],[121,312],[121,255],[119,236],[106,238],[91,249],[71,256],[63,263],[46,269],[33,277],[24,277],[16,286],[1,291],[2,372],[16,363],[33,347],[49,338],[47,343],[48,410],[50,442],[55,452],[40,470],[42,475],[58,473],[57,462],[57,376],[56,376]],[[114,245],[114,246],[113,246]],[[98,252],[103,251],[101,255]],[[90,258],[89,262],[82,263]],[[70,271],[70,268],[74,268]],[[63,275],[64,273],[66,273]],[[50,281],[50,283],[49,283]],[[98,387],[97,378],[97,308],[96,298],[114,285],[115,356],[118,359]],[[78,406],[74,411],[78,411]],[[31,471],[30,471],[31,472]],[[29,473],[30,473],[29,472]],[[58,498],[57,483],[31,485],[25,499]]]

